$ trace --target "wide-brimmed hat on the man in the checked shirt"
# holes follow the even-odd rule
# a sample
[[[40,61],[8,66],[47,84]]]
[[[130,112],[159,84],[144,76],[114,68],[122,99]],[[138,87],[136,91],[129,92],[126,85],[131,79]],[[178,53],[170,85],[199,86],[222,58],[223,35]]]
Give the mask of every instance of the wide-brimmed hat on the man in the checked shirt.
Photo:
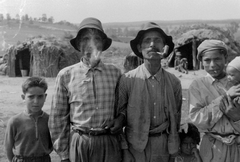
[[[97,29],[99,30],[103,36],[104,36],[104,39],[106,40],[104,45],[103,45],[103,51],[105,51],[106,49],[108,49],[110,47],[110,45],[112,44],[112,39],[109,38],[103,31],[103,27],[102,27],[102,23],[101,21],[99,21],[98,19],[96,18],[93,18],[93,17],[89,17],[89,18],[86,18],[84,19],[81,23],[80,23],[80,28],[78,30],[78,33],[77,33],[77,36],[73,39],[70,40],[70,43],[71,45],[79,51],[79,49],[77,48],[76,46],[76,39],[78,36],[80,36],[82,34],[82,31],[83,29],[86,29],[86,28],[94,28],[94,29]]]

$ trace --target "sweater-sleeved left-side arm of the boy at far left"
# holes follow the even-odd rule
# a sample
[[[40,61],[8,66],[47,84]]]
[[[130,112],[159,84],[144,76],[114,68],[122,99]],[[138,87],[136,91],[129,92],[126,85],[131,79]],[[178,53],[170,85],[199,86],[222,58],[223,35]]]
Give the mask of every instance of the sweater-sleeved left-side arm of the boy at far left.
[[[4,139],[5,151],[6,151],[6,155],[9,162],[11,162],[14,157],[13,150],[12,150],[14,146],[13,137],[14,137],[13,126],[12,126],[12,120],[10,119],[7,124],[5,139]]]

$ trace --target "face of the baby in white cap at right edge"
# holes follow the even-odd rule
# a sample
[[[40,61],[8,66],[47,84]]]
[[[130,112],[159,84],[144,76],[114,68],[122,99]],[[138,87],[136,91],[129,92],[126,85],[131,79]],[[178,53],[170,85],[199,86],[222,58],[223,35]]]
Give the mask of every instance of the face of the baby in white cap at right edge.
[[[240,83],[240,71],[238,71],[234,67],[227,66],[226,72],[229,82],[231,82],[233,85],[237,85]]]

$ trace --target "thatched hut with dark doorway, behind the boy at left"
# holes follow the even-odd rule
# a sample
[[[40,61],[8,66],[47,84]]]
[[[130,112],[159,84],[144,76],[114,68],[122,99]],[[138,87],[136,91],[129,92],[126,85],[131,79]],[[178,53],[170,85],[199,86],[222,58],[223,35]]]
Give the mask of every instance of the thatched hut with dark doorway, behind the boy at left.
[[[56,77],[62,68],[79,62],[68,41],[33,38],[9,48],[8,75]]]

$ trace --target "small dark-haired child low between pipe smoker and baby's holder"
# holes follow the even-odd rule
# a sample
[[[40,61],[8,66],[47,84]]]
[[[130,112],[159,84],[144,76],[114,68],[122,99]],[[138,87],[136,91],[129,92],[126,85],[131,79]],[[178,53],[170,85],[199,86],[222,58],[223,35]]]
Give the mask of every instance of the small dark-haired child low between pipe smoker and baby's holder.
[[[197,149],[200,142],[200,133],[193,124],[186,123],[187,132],[182,130],[179,133],[180,137],[180,154],[175,158],[175,162],[202,162],[202,159]]]

